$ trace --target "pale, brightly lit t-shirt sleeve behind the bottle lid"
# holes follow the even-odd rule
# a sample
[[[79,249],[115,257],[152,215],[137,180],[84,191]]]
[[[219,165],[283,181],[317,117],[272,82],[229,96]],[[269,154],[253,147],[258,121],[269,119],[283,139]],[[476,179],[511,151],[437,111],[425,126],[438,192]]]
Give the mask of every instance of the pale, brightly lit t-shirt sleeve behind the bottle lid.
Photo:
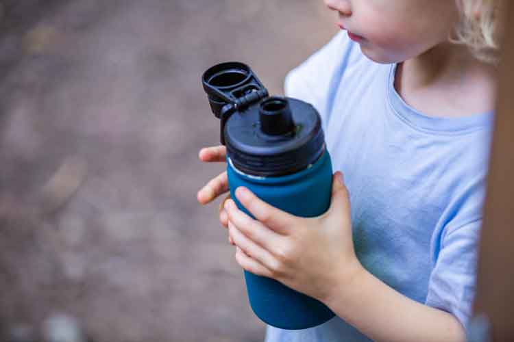
[[[284,93],[313,105],[323,117],[330,96],[330,83],[345,51],[349,49],[347,35],[341,31],[328,44],[291,70],[285,78]]]

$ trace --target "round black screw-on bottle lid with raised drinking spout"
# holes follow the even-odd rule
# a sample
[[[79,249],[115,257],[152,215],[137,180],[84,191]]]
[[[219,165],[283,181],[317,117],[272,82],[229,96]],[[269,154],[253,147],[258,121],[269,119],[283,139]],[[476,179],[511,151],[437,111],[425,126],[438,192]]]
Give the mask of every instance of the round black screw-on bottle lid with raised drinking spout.
[[[294,98],[273,96],[236,111],[223,134],[234,167],[254,176],[298,172],[325,150],[317,110]]]

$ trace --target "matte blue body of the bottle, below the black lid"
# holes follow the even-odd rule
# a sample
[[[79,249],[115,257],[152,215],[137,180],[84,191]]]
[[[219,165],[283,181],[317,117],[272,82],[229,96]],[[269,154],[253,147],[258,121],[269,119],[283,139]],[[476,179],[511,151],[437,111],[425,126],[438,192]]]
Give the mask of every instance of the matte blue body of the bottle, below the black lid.
[[[332,161],[328,150],[308,168],[286,176],[258,177],[236,170],[227,157],[230,196],[239,209],[254,216],[241,205],[234,192],[239,186],[250,189],[273,207],[302,217],[315,217],[330,206]],[[322,252],[322,251],[320,251]],[[276,328],[297,330],[323,324],[334,313],[325,304],[286,287],[277,280],[244,271],[250,305],[256,315]]]

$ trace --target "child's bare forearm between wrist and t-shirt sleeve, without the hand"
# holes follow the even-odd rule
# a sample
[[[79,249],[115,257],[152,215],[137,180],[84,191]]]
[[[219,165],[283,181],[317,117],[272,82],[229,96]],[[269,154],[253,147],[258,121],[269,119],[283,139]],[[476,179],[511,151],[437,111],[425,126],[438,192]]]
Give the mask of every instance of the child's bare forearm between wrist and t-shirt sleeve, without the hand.
[[[325,304],[374,341],[465,341],[454,315],[411,300],[362,268]]]

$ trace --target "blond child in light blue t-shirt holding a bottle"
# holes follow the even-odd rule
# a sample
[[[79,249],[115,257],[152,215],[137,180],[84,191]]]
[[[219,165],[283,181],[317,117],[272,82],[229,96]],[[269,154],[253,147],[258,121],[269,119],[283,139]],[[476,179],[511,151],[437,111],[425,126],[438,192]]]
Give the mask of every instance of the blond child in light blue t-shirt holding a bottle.
[[[291,71],[285,89],[318,109],[344,183],[336,172],[330,209],[318,218],[280,211],[242,187],[236,196],[256,220],[230,199],[220,209],[244,269],[336,313],[306,330],[268,326],[267,342],[465,340],[499,4],[455,1],[325,0],[343,31]],[[225,148],[199,157],[224,161]],[[198,200],[227,191],[223,173]]]

